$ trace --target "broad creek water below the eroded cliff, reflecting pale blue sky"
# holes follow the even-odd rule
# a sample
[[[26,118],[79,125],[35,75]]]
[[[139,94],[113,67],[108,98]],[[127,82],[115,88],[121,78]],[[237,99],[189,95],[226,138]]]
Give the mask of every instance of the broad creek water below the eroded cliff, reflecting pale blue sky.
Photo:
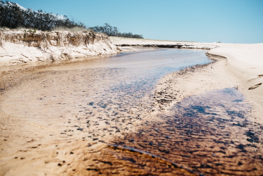
[[[5,94],[0,97],[0,108],[8,114],[33,117],[33,121],[43,115],[56,119],[59,114],[128,111],[142,106],[141,98],[166,73],[210,62],[204,52],[162,49],[9,67],[1,72],[0,88]],[[90,102],[98,108],[86,106]]]

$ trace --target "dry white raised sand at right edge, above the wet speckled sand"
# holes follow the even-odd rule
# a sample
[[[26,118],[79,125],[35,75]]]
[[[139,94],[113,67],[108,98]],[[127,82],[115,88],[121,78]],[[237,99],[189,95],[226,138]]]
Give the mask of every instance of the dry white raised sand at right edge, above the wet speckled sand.
[[[225,69],[237,81],[238,89],[258,108],[263,109],[263,85],[249,90],[252,86],[263,83],[263,43],[222,43],[219,46],[210,50],[208,55],[225,57]]]

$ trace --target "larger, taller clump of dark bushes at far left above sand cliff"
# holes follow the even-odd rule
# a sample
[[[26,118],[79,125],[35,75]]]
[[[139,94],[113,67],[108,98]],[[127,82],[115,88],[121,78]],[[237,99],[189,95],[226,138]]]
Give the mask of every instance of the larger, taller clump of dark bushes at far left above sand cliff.
[[[55,27],[86,28],[83,23],[69,20],[67,16],[60,17],[53,13],[43,12],[42,10],[24,10],[16,3],[8,1],[0,1],[0,27],[11,29],[24,27],[43,31],[52,30]]]

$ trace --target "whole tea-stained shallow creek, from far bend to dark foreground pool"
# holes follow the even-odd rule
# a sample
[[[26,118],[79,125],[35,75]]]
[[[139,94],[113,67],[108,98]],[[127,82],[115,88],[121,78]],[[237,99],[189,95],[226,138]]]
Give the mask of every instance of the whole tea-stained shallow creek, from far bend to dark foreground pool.
[[[0,115],[101,142],[72,175],[262,175],[263,127],[248,120],[252,107],[235,88],[150,113],[158,81],[211,62],[205,52],[157,49],[2,67]]]

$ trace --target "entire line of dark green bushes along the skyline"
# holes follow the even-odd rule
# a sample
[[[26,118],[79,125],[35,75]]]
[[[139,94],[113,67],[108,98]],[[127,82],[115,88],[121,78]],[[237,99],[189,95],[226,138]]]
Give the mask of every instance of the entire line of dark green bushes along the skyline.
[[[42,31],[51,31],[56,27],[86,29],[81,22],[70,20],[66,15],[63,17],[47,13],[42,10],[33,11],[32,9],[22,9],[18,4],[9,1],[0,0],[0,27],[30,28]],[[94,32],[107,34],[108,36],[118,36],[126,38],[143,38],[142,35],[129,33],[120,33],[117,27],[112,27],[108,23],[104,26],[94,26],[89,28]]]

